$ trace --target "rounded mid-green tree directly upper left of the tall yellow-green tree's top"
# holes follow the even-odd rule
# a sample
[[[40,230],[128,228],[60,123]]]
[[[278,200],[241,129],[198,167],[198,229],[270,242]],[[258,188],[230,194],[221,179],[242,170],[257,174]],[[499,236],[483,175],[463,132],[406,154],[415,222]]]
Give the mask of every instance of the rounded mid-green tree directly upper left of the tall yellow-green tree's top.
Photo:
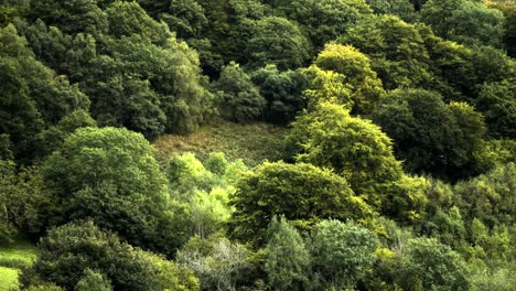
[[[289,20],[267,17],[256,22],[246,54],[251,67],[273,64],[278,69],[301,67],[309,58],[310,45],[300,29]]]

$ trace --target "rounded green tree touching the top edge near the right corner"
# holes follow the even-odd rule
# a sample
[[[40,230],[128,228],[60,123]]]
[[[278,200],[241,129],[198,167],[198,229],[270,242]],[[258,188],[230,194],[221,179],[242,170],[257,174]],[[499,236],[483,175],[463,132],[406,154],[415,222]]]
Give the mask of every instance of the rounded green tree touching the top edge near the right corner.
[[[504,35],[503,13],[483,1],[429,0],[421,9],[421,20],[436,34],[465,44],[501,46]]]

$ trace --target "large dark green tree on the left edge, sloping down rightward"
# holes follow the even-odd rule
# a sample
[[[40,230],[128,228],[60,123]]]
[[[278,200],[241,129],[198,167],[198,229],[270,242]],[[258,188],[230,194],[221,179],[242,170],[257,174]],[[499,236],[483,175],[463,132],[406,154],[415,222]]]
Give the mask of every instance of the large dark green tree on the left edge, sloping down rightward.
[[[0,29],[0,134],[7,143],[2,155],[12,154],[17,162],[26,164],[46,155],[61,140],[47,139],[45,131],[54,126],[58,131],[60,122],[76,111],[87,111],[89,100],[66,77],[36,61],[12,24]],[[83,117],[76,127],[92,123],[87,115]],[[66,136],[67,131],[58,133]]]

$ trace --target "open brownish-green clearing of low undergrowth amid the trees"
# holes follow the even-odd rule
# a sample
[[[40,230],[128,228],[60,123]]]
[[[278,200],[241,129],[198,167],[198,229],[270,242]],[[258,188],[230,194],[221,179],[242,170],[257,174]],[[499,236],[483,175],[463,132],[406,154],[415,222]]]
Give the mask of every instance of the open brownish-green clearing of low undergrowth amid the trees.
[[[153,146],[161,163],[175,153],[193,152],[204,160],[211,152],[223,152],[228,161],[241,159],[248,166],[255,166],[265,160],[281,159],[286,133],[287,128],[268,123],[221,121],[187,136],[161,136]]]

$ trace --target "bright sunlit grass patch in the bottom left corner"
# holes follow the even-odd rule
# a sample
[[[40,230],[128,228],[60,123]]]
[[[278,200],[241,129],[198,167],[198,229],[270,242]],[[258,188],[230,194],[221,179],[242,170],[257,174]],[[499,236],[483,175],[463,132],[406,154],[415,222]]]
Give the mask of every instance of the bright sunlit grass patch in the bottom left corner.
[[[0,291],[17,290],[18,274],[35,259],[34,246],[24,239],[0,247]]]

